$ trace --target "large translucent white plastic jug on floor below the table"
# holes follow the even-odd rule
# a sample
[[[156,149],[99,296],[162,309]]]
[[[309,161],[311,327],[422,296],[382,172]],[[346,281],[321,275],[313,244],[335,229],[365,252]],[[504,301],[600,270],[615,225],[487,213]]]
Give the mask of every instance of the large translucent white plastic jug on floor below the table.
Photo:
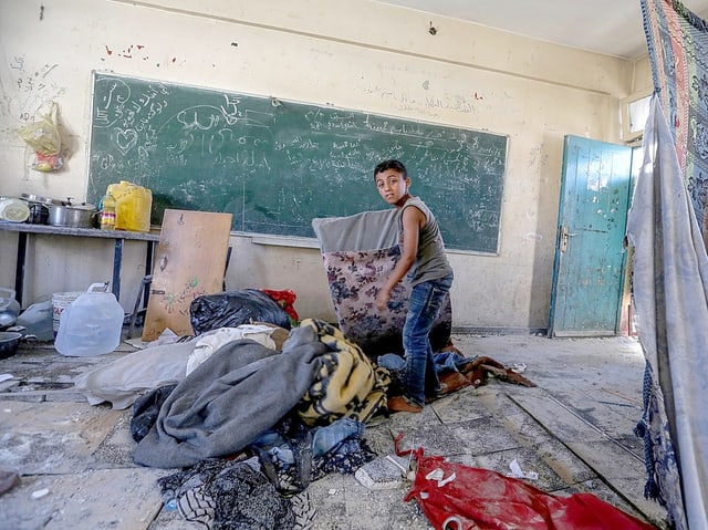
[[[113,352],[121,343],[123,306],[107,283],[93,283],[74,300],[59,321],[54,347],[62,355],[88,356]],[[100,289],[100,291],[98,291]]]

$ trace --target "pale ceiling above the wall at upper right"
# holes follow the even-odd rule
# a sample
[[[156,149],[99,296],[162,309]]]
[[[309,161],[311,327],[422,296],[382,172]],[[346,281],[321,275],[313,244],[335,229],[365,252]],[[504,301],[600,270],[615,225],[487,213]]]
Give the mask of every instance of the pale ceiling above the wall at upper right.
[[[451,17],[533,39],[624,59],[646,55],[639,0],[379,0]],[[708,18],[708,0],[684,0],[700,18]]]

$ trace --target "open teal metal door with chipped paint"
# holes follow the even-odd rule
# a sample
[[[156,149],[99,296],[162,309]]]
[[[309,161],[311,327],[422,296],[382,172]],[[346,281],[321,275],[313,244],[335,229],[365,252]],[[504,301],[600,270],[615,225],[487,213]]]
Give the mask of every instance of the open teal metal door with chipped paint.
[[[549,315],[551,336],[620,329],[632,147],[566,136]]]

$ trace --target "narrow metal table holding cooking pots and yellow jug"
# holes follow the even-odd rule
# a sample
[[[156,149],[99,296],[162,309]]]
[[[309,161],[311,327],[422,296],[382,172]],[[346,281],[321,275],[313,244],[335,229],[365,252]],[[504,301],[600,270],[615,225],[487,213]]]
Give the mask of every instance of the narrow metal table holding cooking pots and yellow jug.
[[[145,241],[145,274],[153,271],[153,256],[155,241],[159,241],[159,233],[131,232],[126,230],[100,230],[97,228],[70,228],[53,227],[48,225],[29,225],[25,222],[0,221],[0,230],[18,232],[18,260],[14,272],[14,291],[17,301],[22,304],[22,291],[24,288],[24,262],[27,259],[27,239],[29,233],[43,236],[63,236],[80,238],[113,239],[115,249],[113,252],[113,281],[111,283],[113,294],[119,300],[121,295],[121,266],[123,262],[123,243],[126,239]]]

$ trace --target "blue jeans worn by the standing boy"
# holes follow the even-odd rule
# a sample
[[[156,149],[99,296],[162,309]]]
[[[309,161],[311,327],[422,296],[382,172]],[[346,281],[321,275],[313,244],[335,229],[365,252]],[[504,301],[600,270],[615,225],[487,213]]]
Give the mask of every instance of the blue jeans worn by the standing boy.
[[[418,406],[425,404],[426,393],[434,395],[440,389],[428,335],[440,315],[442,302],[450,287],[452,274],[418,283],[413,288],[408,300],[408,313],[403,326],[403,347],[406,355],[403,383],[406,397]]]

